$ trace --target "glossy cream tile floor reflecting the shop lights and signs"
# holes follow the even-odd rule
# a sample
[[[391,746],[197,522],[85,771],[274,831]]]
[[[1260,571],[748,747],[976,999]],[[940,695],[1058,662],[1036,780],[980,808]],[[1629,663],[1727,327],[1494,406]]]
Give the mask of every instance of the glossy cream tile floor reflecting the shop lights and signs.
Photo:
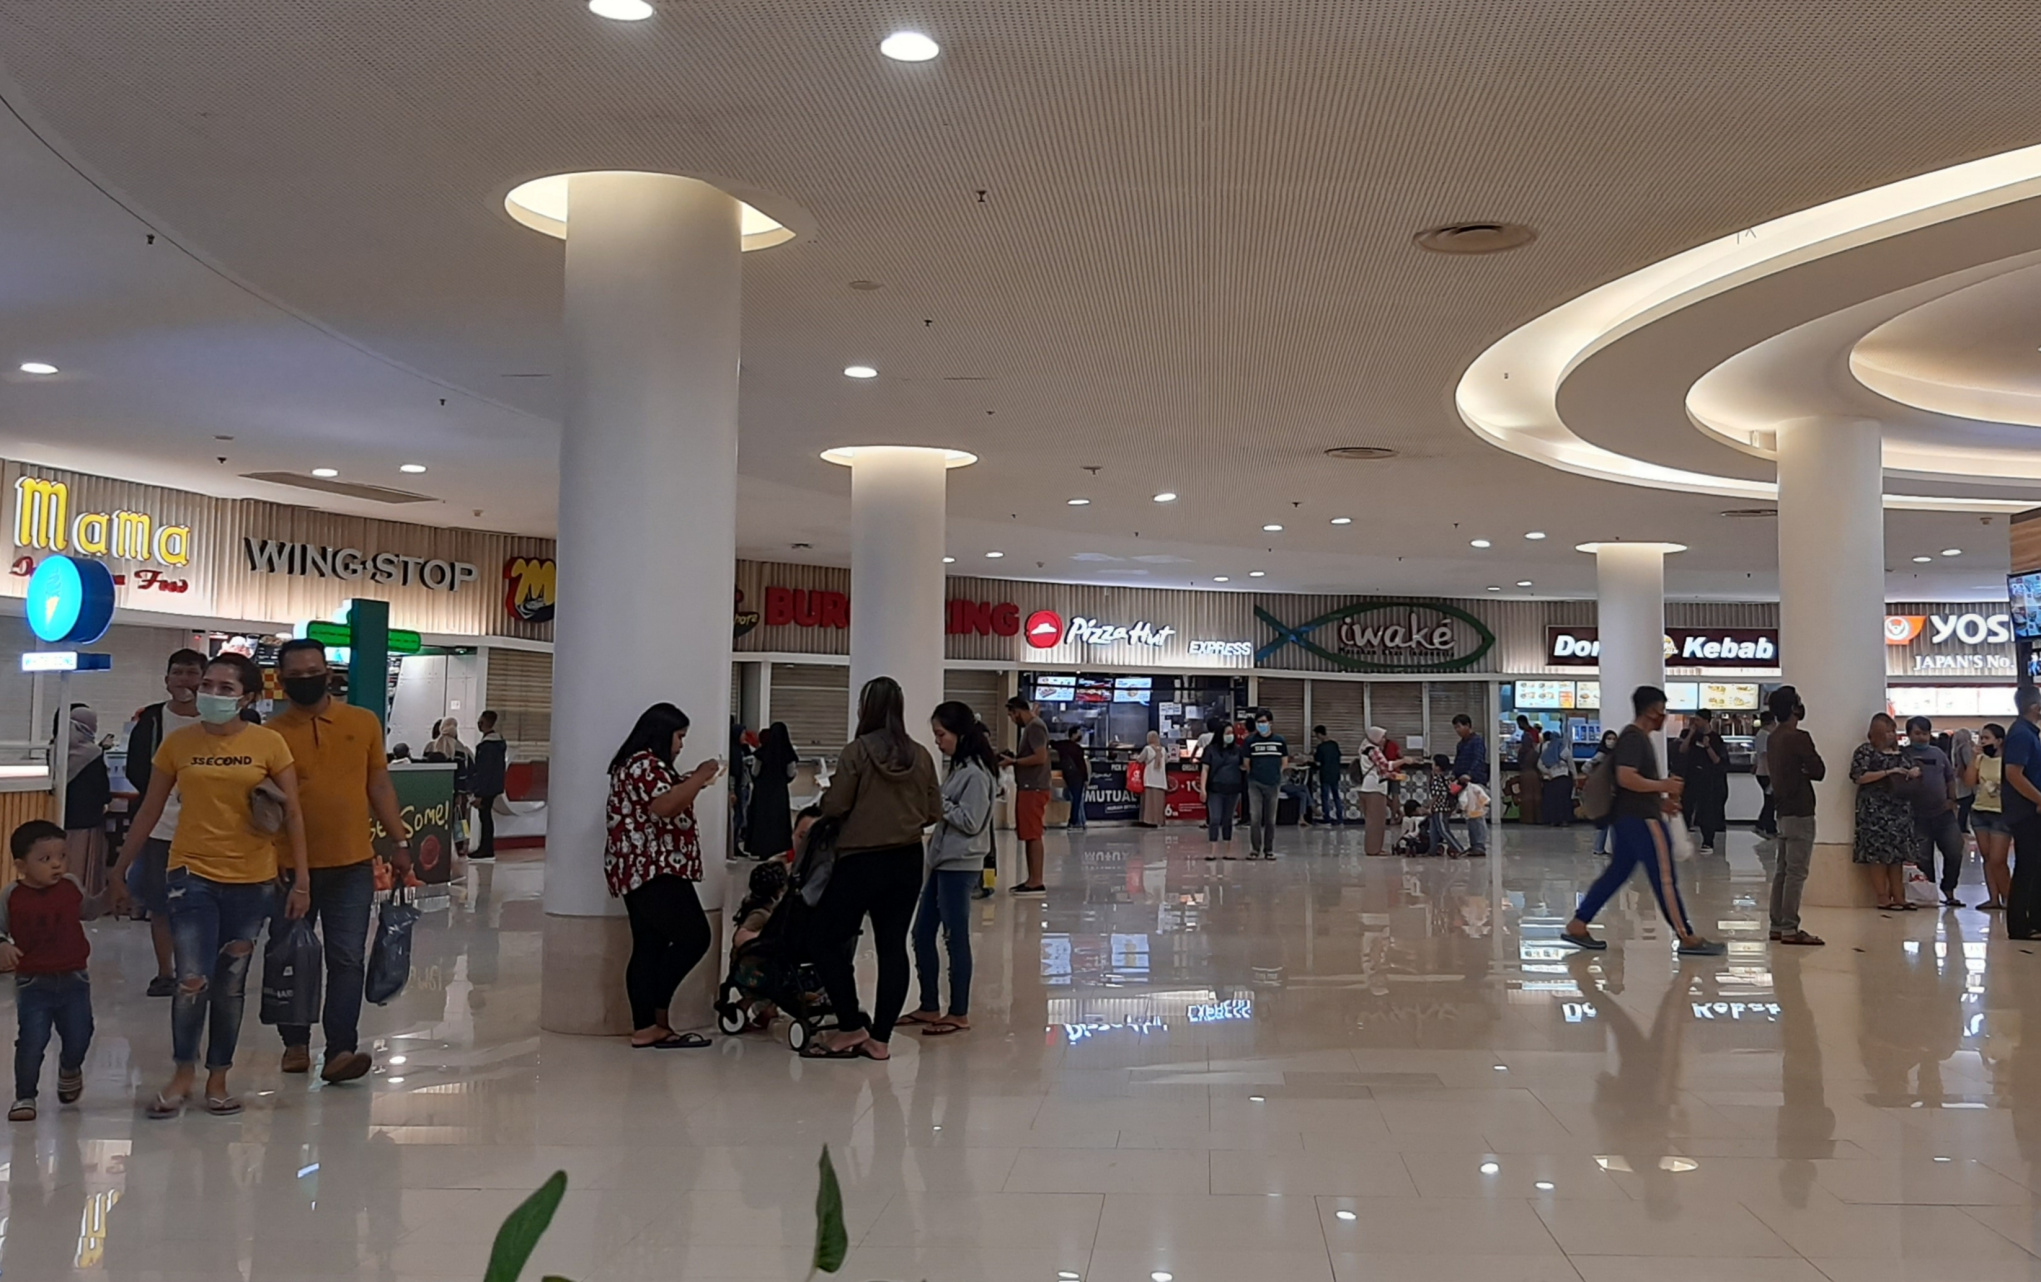
[[[541,868],[504,861],[367,1015],[371,1080],[282,1078],[251,1019],[241,1119],[141,1119],[167,1010],[102,923],[88,1094],[53,1108],[51,1066],[8,1127],[0,1276],[474,1280],[563,1168],[527,1278],[794,1280],[829,1143],[859,1282],[2041,1278],[2041,955],[1992,915],[1772,949],[1733,833],[1680,870],[1727,959],[1680,964],[1641,882],[1586,957],[1553,933],[1588,833],[1357,843],[1053,833],[1049,898],[978,908],[976,1029],[888,1066],[541,1035]]]

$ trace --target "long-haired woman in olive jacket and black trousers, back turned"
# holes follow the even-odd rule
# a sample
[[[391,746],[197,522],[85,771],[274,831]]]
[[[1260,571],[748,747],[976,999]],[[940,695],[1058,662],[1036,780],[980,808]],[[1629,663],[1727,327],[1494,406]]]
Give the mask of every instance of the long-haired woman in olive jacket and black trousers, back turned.
[[[841,819],[837,864],[814,908],[814,970],[837,1010],[837,1031],[802,1051],[810,1059],[890,1057],[906,1004],[906,931],[920,898],[920,831],[943,819],[935,757],[906,733],[900,682],[876,676],[857,694],[857,737],[823,794],[823,817]],[[857,1004],[851,968],[857,931],[872,919],[880,984],[872,1015]]]

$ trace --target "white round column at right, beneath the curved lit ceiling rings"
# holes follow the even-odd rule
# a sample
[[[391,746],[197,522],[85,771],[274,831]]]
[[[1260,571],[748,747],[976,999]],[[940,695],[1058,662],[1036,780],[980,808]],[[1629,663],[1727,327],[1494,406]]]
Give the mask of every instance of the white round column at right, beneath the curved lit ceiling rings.
[[[1870,884],[1849,861],[1849,753],[1886,706],[1884,441],[1876,423],[1798,418],[1780,427],[1778,467],[1780,661],[1829,766],[1814,786],[1804,902],[1870,904]]]

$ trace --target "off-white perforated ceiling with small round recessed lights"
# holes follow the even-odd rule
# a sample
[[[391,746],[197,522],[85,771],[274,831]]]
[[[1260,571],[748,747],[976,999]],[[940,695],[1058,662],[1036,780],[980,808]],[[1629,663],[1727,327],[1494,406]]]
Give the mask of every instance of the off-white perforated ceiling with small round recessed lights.
[[[896,24],[943,57],[878,57]],[[1645,263],[2037,141],[2035,45],[2025,6],[1888,0],[1847,22],[1784,4],[665,2],[641,24],[578,0],[0,0],[0,90],[43,139],[0,114],[0,367],[65,367],[0,380],[0,449],[549,531],[561,253],[502,192],[671,167],[816,227],[745,261],[751,555],[845,561],[847,480],[814,455],[902,441],[984,459],[951,478],[969,572],[1588,594],[1572,545],[1621,535],[1694,549],[1676,594],[1768,596],[1772,523],[1490,449],[1453,384],[1502,333]],[[1490,259],[1410,245],[1459,218],[1539,239]],[[882,378],[841,378],[853,361]],[[1637,427],[1700,441],[1686,382],[1665,380],[1670,421]],[[1400,457],[1323,457],[1349,443]],[[237,480],[312,465],[445,502]],[[1078,494],[1092,506],[1063,504]],[[1906,512],[1888,531],[1898,549],[1978,525]],[[1892,592],[1988,592],[2002,549],[1998,570],[1927,570]]]

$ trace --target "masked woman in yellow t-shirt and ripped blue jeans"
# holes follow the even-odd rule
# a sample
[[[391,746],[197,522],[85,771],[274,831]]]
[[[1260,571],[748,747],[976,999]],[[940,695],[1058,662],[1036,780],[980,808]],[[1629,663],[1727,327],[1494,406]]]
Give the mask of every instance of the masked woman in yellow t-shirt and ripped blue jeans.
[[[255,939],[276,910],[276,833],[255,825],[253,792],[273,782],[284,794],[284,833],[298,878],[286,917],[304,917],[312,878],[306,872],[304,815],[290,747],[241,712],[261,694],[261,668],[247,655],[218,655],[198,684],[198,725],[163,737],[155,749],[149,794],[129,827],[114,870],[114,900],[127,908],[127,868],[178,790],[178,833],[169,839],[169,939],[178,990],[169,1008],[169,1045],[178,1068],[149,1104],[149,1117],[184,1113],[198,1074],[198,1035],[206,1039],[206,1113],[241,1113],[227,1092],[227,1070],[241,1039]]]

